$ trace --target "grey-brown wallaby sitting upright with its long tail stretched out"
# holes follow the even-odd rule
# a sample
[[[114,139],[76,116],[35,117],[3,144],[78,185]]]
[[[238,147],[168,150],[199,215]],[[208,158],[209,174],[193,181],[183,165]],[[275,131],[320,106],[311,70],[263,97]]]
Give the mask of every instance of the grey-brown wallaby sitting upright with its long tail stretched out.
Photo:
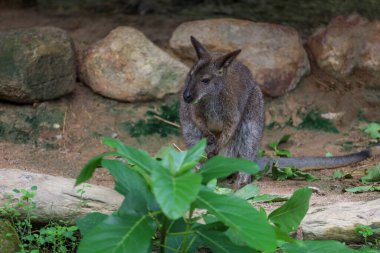
[[[180,99],[182,135],[188,147],[207,138],[208,157],[220,154],[266,164],[300,169],[332,168],[361,161],[365,150],[338,157],[256,158],[263,136],[265,109],[263,94],[249,69],[236,60],[241,50],[227,54],[208,52],[191,36],[198,61],[188,73]],[[251,176],[239,173],[236,186],[250,183]]]

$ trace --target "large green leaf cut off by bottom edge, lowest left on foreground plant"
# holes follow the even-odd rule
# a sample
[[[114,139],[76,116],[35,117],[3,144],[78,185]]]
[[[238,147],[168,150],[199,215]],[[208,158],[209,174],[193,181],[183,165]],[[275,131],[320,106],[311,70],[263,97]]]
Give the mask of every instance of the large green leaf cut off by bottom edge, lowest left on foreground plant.
[[[155,230],[148,216],[109,216],[83,237],[78,253],[148,253]]]

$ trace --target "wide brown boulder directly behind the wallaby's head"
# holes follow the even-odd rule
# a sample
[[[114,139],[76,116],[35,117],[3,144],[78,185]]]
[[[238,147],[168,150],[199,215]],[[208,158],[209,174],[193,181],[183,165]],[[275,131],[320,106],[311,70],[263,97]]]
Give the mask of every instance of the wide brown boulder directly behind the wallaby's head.
[[[294,89],[310,69],[300,36],[288,26],[227,18],[183,23],[173,32],[170,46],[181,57],[195,59],[190,35],[209,50],[242,49],[238,59],[272,97]]]

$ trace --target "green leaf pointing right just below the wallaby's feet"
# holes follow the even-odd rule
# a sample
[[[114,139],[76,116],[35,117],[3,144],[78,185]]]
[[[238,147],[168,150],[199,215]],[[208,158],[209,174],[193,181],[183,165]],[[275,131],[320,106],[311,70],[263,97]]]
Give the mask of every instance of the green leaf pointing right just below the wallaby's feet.
[[[199,173],[203,177],[202,182],[207,183],[211,179],[224,178],[237,171],[256,174],[260,169],[259,166],[252,161],[215,156],[203,165]]]

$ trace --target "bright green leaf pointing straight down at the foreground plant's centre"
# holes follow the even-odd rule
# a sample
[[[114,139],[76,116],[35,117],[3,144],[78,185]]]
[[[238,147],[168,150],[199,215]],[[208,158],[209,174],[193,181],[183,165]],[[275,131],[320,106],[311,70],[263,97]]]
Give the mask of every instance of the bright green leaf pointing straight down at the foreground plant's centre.
[[[153,193],[164,214],[178,219],[196,199],[202,177],[188,171],[180,176],[171,175],[166,169],[153,170]]]

